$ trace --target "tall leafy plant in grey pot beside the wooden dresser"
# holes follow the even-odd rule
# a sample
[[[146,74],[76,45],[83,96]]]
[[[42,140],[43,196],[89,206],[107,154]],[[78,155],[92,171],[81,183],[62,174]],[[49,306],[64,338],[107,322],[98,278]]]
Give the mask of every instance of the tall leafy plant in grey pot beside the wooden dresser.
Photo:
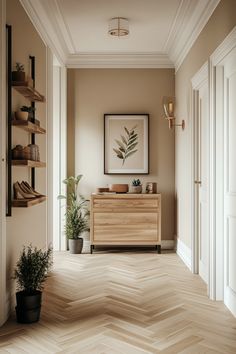
[[[69,241],[70,253],[81,253],[85,231],[89,231],[88,200],[78,194],[78,185],[82,175],[70,176],[63,183],[67,185],[67,197],[59,195],[58,199],[67,199],[65,233]]]

